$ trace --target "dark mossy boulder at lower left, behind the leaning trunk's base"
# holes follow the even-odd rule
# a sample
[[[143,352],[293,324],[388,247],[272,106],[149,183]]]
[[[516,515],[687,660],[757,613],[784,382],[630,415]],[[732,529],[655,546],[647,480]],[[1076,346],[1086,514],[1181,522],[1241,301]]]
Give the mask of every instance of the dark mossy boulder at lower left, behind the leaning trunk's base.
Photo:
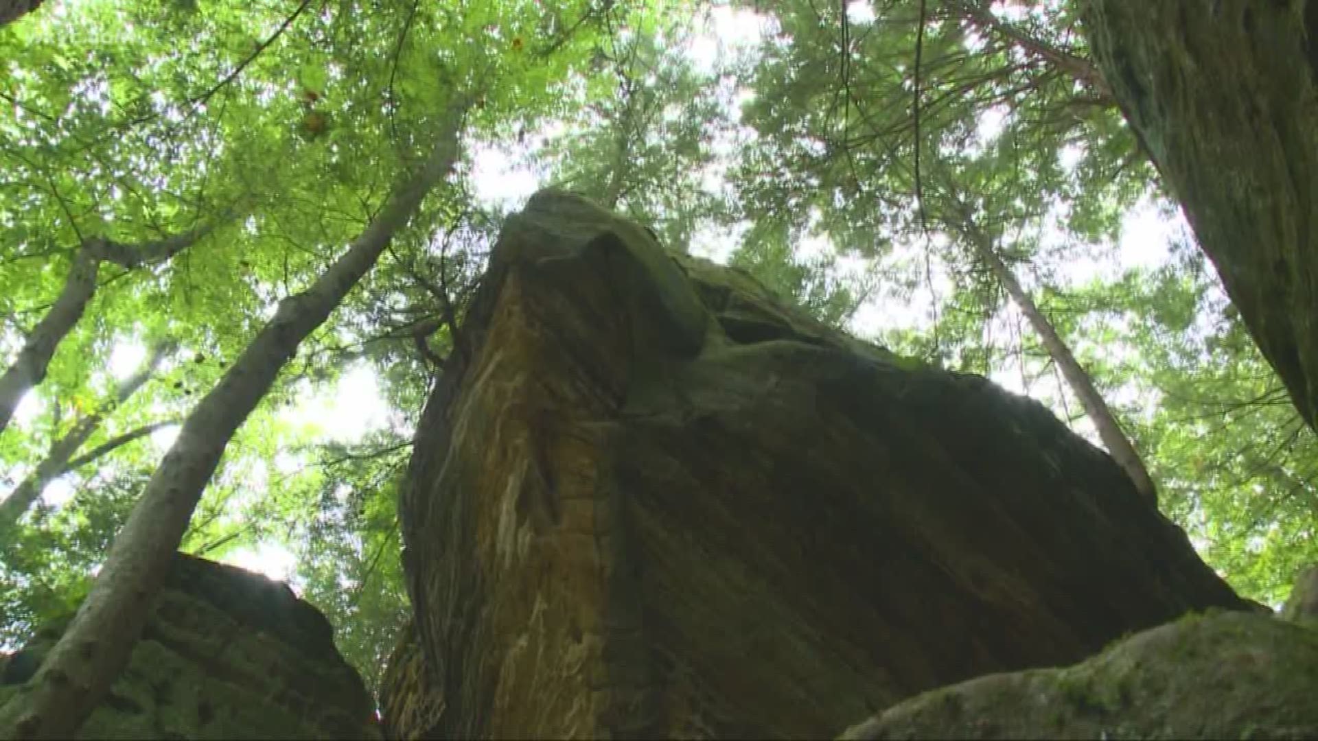
[[[46,626],[9,658],[0,701],[21,691],[62,630]],[[182,554],[128,667],[79,732],[79,738],[377,737],[372,699],[319,610],[285,584]]]

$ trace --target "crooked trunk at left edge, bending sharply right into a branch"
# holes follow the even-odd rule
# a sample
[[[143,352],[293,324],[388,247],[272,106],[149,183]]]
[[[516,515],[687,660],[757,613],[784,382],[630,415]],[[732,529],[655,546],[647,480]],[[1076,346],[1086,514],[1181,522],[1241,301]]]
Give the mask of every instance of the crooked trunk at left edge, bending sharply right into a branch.
[[[161,241],[145,244],[119,244],[107,239],[88,239],[74,253],[74,264],[65,278],[65,287],[41,318],[37,327],[28,335],[13,365],[0,374],[0,432],[5,431],[22,394],[46,377],[50,359],[55,348],[69,336],[82,319],[87,303],[96,293],[96,273],[103,261],[113,262],[125,269],[169,260],[196,240],[202,239],[212,225],[202,227]]]

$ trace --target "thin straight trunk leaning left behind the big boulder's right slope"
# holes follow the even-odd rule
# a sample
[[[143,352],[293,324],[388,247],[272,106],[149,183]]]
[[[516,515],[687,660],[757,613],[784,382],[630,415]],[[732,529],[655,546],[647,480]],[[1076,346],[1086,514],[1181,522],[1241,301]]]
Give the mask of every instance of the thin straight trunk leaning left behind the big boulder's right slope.
[[[1048,349],[1048,355],[1053,359],[1053,363],[1061,368],[1062,377],[1066,378],[1066,385],[1072,388],[1081,406],[1085,407],[1085,414],[1089,414],[1089,418],[1094,422],[1098,436],[1103,440],[1103,446],[1107,447],[1107,452],[1111,454],[1112,460],[1131,477],[1135,489],[1157,506],[1157,488],[1153,485],[1153,477],[1149,476],[1148,468],[1144,467],[1144,459],[1140,458],[1140,454],[1135,450],[1135,444],[1122,431],[1120,423],[1116,422],[1116,417],[1108,409],[1103,394],[1094,386],[1094,380],[1089,376],[1089,372],[1075,360],[1070,347],[1057,334],[1053,323],[1048,320],[1048,316],[1044,316],[1044,312],[1039,310],[1039,306],[1029,298],[1025,289],[1020,286],[1016,274],[994,252],[992,241],[988,236],[981,232],[973,223],[965,222],[965,219],[960,227],[967,241],[971,243],[975,254],[983,260],[988,270],[998,278],[998,282],[1007,289],[1011,299],[1020,307],[1025,319],[1029,320],[1029,326],[1033,327],[1039,339],[1044,343],[1044,348]]]

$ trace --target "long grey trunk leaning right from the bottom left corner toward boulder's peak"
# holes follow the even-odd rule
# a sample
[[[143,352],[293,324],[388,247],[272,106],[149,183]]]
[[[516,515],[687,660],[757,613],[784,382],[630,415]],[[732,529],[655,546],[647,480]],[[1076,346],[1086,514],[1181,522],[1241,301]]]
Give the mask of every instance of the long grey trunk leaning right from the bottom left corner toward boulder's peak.
[[[0,737],[69,738],[105,696],[141,636],[150,607],[224,447],[298,344],[374,266],[393,235],[452,169],[467,99],[422,169],[399,183],[366,229],[306,291],[274,316],[183,422],[146,490],[115,538],[91,592],[37,675],[0,708]]]

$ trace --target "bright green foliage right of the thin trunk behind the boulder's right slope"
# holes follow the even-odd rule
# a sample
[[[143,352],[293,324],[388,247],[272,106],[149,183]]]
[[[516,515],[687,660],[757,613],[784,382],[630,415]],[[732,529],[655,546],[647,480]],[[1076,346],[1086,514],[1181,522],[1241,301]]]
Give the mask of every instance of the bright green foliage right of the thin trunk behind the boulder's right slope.
[[[1161,481],[1162,509],[1242,593],[1280,605],[1318,560],[1318,439],[1249,340],[1193,245],[1156,270],[1095,283],[1075,297],[1133,352],[1103,369],[1108,388],[1153,400],[1139,438]]]

